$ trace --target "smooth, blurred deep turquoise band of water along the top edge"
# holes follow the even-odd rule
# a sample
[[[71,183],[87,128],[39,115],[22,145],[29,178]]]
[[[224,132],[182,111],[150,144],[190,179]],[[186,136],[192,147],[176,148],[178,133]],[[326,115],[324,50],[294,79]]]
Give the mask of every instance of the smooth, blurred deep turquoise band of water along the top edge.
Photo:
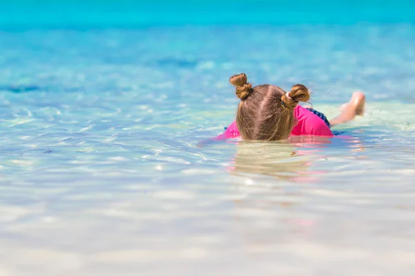
[[[10,28],[134,28],[234,24],[413,23],[412,1],[2,1]]]

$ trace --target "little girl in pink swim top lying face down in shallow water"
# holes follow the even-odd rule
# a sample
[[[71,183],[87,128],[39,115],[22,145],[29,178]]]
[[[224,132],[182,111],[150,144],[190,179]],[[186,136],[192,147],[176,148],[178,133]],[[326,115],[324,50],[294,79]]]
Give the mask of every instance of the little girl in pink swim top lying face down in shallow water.
[[[349,103],[342,106],[342,113],[328,121],[326,117],[311,108],[298,106],[299,101],[310,99],[308,89],[296,84],[285,92],[278,86],[263,84],[252,88],[245,74],[230,77],[241,99],[237,110],[237,121],[217,138],[241,136],[245,140],[277,141],[291,135],[333,137],[331,126],[351,121],[362,115],[365,95],[355,92]]]

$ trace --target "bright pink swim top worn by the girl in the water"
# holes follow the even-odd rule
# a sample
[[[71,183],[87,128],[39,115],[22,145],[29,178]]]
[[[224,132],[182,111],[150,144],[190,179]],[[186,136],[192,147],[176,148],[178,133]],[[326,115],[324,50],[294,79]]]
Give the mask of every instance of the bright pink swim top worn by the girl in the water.
[[[294,117],[298,119],[298,124],[293,128],[291,136],[308,135],[320,137],[333,137],[329,126],[322,118],[315,115],[313,112],[302,106],[297,106],[294,109]],[[234,121],[217,139],[228,139],[239,137],[239,130],[237,122]]]

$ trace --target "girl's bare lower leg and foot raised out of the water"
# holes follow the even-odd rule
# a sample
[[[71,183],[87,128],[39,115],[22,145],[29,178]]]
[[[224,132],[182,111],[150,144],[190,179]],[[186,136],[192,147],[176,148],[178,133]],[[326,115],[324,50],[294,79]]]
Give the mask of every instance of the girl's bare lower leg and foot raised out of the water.
[[[342,106],[342,113],[338,117],[330,120],[330,125],[344,124],[353,120],[356,116],[363,115],[363,112],[365,112],[365,103],[365,95],[362,92],[354,92],[350,101],[344,103]]]

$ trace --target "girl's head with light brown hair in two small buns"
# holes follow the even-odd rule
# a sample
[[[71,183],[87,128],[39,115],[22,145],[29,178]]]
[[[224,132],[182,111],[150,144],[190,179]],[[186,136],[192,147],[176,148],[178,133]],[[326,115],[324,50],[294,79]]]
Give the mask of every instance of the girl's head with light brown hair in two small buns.
[[[237,110],[237,126],[245,140],[277,141],[288,139],[297,123],[294,108],[308,101],[306,86],[296,84],[290,92],[278,86],[263,84],[252,88],[245,74],[229,79],[241,99]]]

